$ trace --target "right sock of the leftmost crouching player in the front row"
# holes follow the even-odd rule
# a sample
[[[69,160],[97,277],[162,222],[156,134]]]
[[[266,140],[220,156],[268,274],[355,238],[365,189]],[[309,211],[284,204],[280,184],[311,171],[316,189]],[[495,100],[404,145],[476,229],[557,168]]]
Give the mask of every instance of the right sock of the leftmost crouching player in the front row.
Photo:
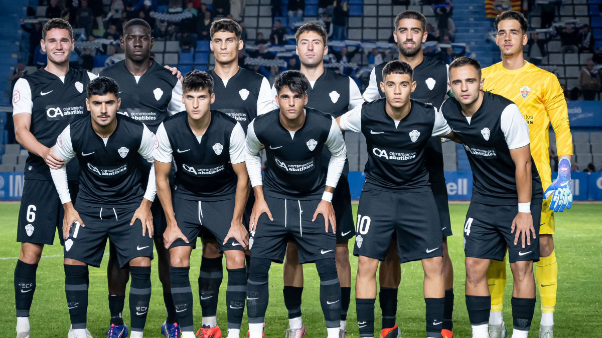
[[[130,266],[129,275],[129,313],[131,314],[132,331],[144,331],[146,316],[151,303],[151,267]]]

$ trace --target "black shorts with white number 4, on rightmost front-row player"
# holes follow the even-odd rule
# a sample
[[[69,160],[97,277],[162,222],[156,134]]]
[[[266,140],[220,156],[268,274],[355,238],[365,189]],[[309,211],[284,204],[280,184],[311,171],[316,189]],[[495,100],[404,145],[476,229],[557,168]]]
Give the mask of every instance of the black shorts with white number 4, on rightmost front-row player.
[[[539,260],[539,220],[541,219],[541,201],[531,202],[531,215],[536,238],[531,245],[522,247],[521,238],[514,245],[515,233],[510,232],[512,221],[517,216],[518,206],[500,206],[470,203],[464,221],[464,253],[466,257],[504,260],[506,248],[510,263],[521,260]]]

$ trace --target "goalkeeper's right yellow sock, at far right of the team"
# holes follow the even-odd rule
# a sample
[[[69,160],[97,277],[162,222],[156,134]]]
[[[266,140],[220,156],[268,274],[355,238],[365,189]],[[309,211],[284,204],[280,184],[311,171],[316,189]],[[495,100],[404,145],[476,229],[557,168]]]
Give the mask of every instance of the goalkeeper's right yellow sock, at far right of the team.
[[[548,257],[539,257],[535,266],[535,276],[541,298],[541,312],[554,313],[558,281],[558,263],[554,251]]]

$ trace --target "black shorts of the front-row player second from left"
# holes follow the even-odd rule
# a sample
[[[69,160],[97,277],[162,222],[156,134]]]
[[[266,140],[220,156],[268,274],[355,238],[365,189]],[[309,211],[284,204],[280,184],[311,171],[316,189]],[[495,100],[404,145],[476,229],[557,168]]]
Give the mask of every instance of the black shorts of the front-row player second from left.
[[[217,241],[220,252],[226,250],[244,251],[243,246],[234,238],[230,238],[226,245],[223,241],[228,235],[234,215],[234,198],[222,201],[198,201],[173,198],[173,215],[178,222],[178,227],[188,239],[176,239],[170,248],[196,247],[196,238],[200,232],[210,233]]]

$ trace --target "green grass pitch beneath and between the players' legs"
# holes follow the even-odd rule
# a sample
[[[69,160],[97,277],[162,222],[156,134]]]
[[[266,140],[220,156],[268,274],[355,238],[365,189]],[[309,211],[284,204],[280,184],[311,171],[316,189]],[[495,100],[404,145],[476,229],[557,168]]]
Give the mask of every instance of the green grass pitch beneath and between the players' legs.
[[[470,337],[470,323],[464,302],[464,252],[462,250],[462,226],[468,204],[450,204],[454,236],[448,239],[450,256],[455,269],[455,337]],[[354,212],[357,205],[353,206]],[[0,204],[0,337],[15,336],[13,271],[16,257],[19,256],[19,244],[16,239],[16,223],[19,204]],[[602,204],[575,204],[573,209],[556,215],[556,256],[559,265],[559,287],[556,305],[556,337],[600,337],[602,332]],[[58,240],[56,241],[58,243]],[[349,244],[350,250],[353,242]],[[45,248],[37,274],[37,290],[31,309],[31,337],[61,337],[67,335],[69,313],[65,304],[63,250],[60,245]],[[355,272],[358,260],[351,256],[352,301],[347,316],[347,330],[350,337],[358,337],[355,315]],[[88,328],[95,338],[104,337],[108,328],[107,300],[107,257],[101,268],[90,268],[90,300],[88,307]],[[191,258],[191,281],[194,293],[195,324],[200,324],[200,306],[196,279],[199,275],[200,250],[193,251]],[[224,281],[220,290],[218,324],[226,337],[226,271],[224,263]],[[510,269],[507,269],[510,275]],[[397,323],[402,337],[424,337],[424,301],[422,294],[423,272],[420,262],[402,265],[402,283],[399,288]],[[151,309],[146,322],[145,337],[161,337],[160,325],[165,319],[161,284],[157,277],[156,260],[153,262],[153,293]],[[324,337],[324,318],[318,301],[319,280],[315,267],[305,266],[305,292],[303,293],[303,321],[308,328],[308,337]],[[504,298],[504,319],[506,326],[512,328],[510,311],[510,293],[512,281],[506,284]],[[270,304],[266,314],[266,336],[284,337],[288,327],[287,310],[282,300],[282,265],[273,264],[270,273]],[[129,310],[123,315],[129,324]],[[376,305],[376,336],[380,331],[380,309]],[[533,318],[529,337],[538,337],[540,319],[539,301]],[[246,317],[243,319],[243,333],[246,333]],[[509,330],[510,333],[510,330]]]

